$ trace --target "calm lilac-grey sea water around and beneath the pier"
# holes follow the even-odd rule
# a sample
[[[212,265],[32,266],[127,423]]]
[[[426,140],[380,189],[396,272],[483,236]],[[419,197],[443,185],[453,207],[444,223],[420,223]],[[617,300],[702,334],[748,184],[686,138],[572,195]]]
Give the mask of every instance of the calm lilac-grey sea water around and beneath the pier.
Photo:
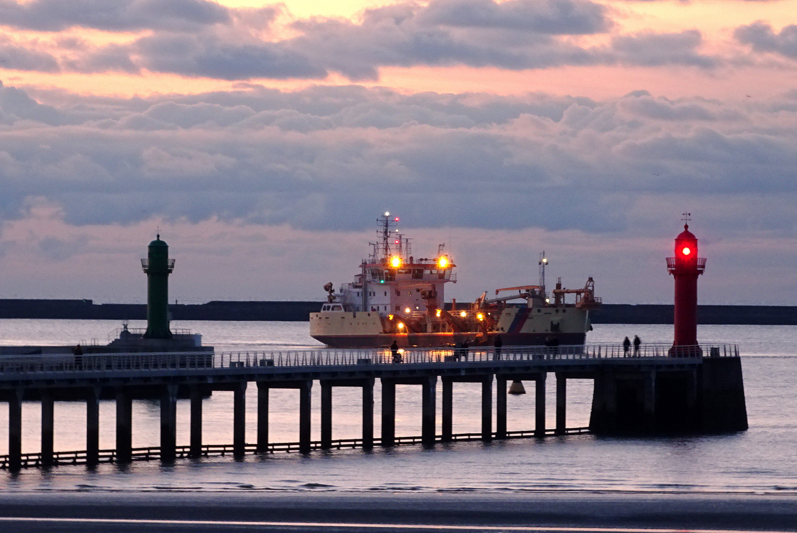
[[[105,342],[113,321],[0,320],[0,344],[74,344],[81,339]],[[131,323],[140,327],[143,323]],[[317,346],[307,322],[174,322],[204,335],[217,350],[300,349]],[[671,342],[671,326],[595,326],[587,342],[618,342],[638,334],[645,342]],[[594,436],[521,439],[493,444],[438,445],[434,450],[406,446],[374,452],[347,450],[225,457],[201,462],[184,460],[170,467],[135,463],[124,471],[104,464],[94,472],[61,466],[17,476],[0,473],[2,490],[240,490],[240,491],[699,491],[797,494],[797,329],[793,326],[701,326],[701,342],[740,345],[750,429],[726,436],[614,439]],[[377,388],[379,387],[377,380]],[[533,427],[534,395],[510,396],[509,429]],[[479,386],[454,385],[454,431],[480,427]],[[553,387],[548,387],[548,424],[553,425]],[[438,387],[439,390],[439,387]],[[379,390],[375,391],[379,434]],[[272,440],[298,437],[298,396],[272,391]],[[420,388],[399,385],[396,432],[420,435]],[[247,397],[247,436],[254,441],[256,389]],[[358,389],[335,389],[333,438],[359,436]],[[567,424],[586,425],[591,381],[568,381]],[[313,438],[319,438],[318,393],[313,397]],[[438,399],[439,405],[439,399]],[[80,402],[56,404],[56,449],[84,449],[85,408]],[[232,442],[231,393],[214,393],[205,402],[204,441]],[[114,405],[101,402],[100,446],[112,448]],[[39,405],[23,405],[23,451],[39,449]],[[159,405],[133,404],[133,445],[157,445]],[[188,402],[178,402],[178,442],[188,442]],[[439,414],[438,414],[439,420]],[[6,434],[7,412],[0,408],[0,435]],[[0,441],[0,453],[6,452]]]

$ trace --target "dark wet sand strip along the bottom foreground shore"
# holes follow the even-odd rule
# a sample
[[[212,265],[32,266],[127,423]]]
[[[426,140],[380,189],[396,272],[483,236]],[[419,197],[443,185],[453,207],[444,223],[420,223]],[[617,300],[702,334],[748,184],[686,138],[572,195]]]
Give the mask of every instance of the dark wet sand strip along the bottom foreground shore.
[[[0,494],[0,527],[92,533],[533,531],[515,527],[615,533],[797,531],[797,498],[574,492],[6,492]]]

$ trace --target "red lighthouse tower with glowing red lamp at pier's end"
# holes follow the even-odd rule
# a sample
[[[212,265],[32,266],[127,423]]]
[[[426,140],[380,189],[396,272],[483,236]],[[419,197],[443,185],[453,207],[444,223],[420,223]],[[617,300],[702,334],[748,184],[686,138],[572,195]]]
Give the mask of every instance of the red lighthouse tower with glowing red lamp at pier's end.
[[[667,270],[675,278],[675,338],[670,355],[699,355],[697,347],[697,276],[705,270],[705,258],[697,257],[697,237],[689,231],[689,213],[684,213],[684,231],[675,238],[675,257],[667,258]]]

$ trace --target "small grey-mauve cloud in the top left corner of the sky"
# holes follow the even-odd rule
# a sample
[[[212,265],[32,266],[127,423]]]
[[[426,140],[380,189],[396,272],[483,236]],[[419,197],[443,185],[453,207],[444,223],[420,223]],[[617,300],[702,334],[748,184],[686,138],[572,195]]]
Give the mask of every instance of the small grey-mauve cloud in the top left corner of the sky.
[[[24,30],[195,30],[229,21],[228,8],[207,0],[0,0],[0,25]]]

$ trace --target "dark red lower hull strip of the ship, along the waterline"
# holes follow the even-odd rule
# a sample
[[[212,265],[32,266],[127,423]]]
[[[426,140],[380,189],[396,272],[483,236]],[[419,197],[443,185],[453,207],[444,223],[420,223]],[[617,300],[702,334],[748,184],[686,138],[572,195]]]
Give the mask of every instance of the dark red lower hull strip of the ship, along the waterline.
[[[331,348],[387,348],[393,341],[402,348],[442,348],[456,345],[457,342],[468,342],[472,347],[493,346],[497,333],[491,332],[486,336],[476,333],[470,334],[340,334],[340,335],[312,335],[312,338],[323,342]],[[559,345],[580,345],[584,343],[585,333],[501,333],[501,342],[504,346],[544,346],[553,339]]]

